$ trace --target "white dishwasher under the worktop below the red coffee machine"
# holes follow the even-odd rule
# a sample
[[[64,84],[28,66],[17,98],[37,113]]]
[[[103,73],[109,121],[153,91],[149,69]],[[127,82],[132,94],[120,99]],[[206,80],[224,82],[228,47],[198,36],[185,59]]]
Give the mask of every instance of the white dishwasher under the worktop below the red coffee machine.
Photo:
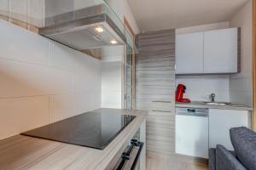
[[[208,158],[208,109],[176,108],[177,154]]]

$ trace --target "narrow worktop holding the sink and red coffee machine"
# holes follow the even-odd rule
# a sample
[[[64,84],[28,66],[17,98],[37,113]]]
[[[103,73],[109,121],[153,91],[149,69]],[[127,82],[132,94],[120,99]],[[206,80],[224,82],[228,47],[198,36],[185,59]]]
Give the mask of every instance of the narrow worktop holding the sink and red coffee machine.
[[[224,109],[224,110],[237,110],[237,111],[253,111],[252,107],[247,105],[206,105],[201,101],[191,101],[190,103],[176,102],[176,107],[190,107],[190,108],[206,108],[206,109]]]

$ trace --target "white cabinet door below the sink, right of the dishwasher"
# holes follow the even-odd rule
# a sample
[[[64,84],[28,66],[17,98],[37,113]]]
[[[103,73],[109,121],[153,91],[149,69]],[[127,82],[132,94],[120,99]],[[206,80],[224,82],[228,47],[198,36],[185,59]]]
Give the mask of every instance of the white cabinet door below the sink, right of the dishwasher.
[[[226,149],[234,150],[230,128],[248,127],[248,111],[210,109],[209,112],[209,147],[222,144]]]

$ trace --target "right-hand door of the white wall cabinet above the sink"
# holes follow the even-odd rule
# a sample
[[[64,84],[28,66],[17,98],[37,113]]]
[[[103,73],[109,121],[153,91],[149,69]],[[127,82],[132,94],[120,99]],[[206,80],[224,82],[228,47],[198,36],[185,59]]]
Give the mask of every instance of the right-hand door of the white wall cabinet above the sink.
[[[238,28],[204,33],[204,73],[235,73]]]

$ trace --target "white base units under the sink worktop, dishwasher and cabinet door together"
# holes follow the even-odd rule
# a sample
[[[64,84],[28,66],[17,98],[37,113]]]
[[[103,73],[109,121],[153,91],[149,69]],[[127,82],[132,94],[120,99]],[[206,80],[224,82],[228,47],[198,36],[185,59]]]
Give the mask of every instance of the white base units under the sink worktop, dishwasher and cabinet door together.
[[[230,128],[251,127],[251,111],[209,109],[207,116],[179,113],[176,108],[175,151],[185,156],[208,158],[208,150],[222,144],[234,150],[230,140]]]

